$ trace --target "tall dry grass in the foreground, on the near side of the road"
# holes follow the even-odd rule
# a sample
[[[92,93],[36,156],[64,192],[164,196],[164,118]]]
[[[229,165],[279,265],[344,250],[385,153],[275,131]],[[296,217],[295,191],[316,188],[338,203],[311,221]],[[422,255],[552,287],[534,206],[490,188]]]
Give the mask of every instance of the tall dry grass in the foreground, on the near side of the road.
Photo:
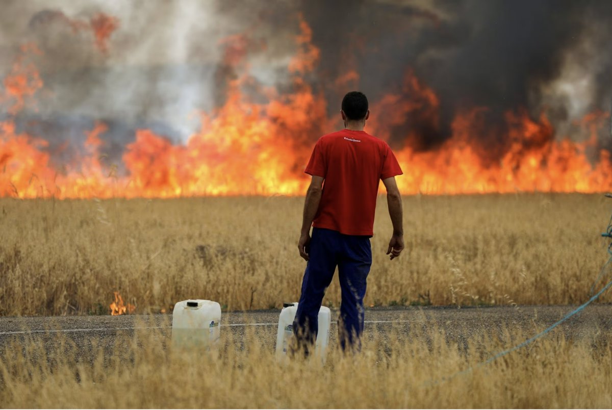
[[[357,356],[280,365],[267,338],[222,333],[218,351],[176,351],[166,334],[118,337],[104,354],[55,337],[0,355],[3,408],[610,408],[610,333],[537,341],[473,371],[524,335],[476,332],[467,346],[435,326],[368,334]],[[504,340],[505,341],[501,341]],[[242,346],[242,347],[241,347]],[[457,372],[464,371],[460,375]],[[452,377],[452,375],[456,375]]]

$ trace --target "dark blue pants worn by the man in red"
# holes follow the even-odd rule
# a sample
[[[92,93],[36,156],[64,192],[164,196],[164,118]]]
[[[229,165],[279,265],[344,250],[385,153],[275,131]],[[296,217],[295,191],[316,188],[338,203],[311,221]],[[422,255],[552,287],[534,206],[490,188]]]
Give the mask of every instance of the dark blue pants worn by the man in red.
[[[299,346],[314,343],[319,329],[318,315],[327,286],[338,266],[342,290],[338,339],[343,350],[347,345],[360,348],[364,331],[364,296],[372,264],[369,236],[344,235],[331,229],[313,228],[309,261],[302,281],[302,296],[293,322]]]

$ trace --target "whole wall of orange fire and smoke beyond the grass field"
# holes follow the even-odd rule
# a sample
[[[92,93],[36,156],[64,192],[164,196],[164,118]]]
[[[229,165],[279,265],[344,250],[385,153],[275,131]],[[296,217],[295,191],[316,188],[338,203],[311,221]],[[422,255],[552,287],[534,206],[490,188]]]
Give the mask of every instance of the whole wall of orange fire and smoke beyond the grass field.
[[[0,196],[302,195],[349,89],[406,195],[612,190],[608,2],[351,4],[343,39],[323,12],[339,4],[143,4],[156,31],[78,3],[9,2]]]

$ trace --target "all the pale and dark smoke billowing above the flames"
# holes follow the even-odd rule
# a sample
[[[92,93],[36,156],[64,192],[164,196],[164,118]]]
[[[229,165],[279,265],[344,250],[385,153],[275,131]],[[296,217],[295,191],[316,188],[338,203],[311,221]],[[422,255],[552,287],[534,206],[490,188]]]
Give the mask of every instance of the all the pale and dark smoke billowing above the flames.
[[[508,111],[532,118],[545,111],[559,137],[576,139],[584,138],[575,126],[581,117],[610,110],[606,0],[6,0],[0,73],[10,73],[23,44],[35,43],[32,64],[44,86],[17,114],[17,126],[44,134],[62,158],[103,121],[105,150],[118,158],[137,129],[186,141],[198,113],[222,106],[245,73],[250,81],[241,86],[253,100],[266,99],[262,89],[294,89],[288,67],[300,18],[319,53],[303,81],[332,116],[346,91],[364,91],[372,108],[386,111],[372,115],[395,147],[436,149],[456,114],[477,107],[485,128],[498,130],[476,135],[492,152],[500,144],[491,135],[506,133]],[[437,100],[398,109],[415,87]],[[9,103],[1,112],[11,115]]]

